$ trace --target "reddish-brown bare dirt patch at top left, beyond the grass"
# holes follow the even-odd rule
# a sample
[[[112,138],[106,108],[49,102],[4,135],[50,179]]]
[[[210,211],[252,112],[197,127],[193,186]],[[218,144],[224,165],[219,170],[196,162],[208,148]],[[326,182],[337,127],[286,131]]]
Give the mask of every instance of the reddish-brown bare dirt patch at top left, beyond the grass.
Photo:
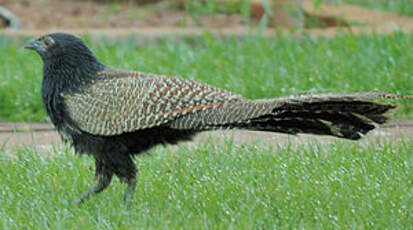
[[[50,30],[147,28],[147,27],[232,27],[245,24],[240,15],[203,16],[199,21],[165,2],[148,6],[73,0],[0,0],[0,5],[14,12],[22,29]]]

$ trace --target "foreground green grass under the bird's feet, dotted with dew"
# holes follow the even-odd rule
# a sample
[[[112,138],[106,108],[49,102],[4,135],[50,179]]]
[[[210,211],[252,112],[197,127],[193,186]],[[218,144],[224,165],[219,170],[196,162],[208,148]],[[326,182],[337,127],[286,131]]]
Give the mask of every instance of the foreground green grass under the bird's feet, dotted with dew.
[[[142,155],[135,200],[124,185],[71,202],[93,162],[68,150],[0,155],[2,229],[408,229],[413,142],[336,141],[271,148],[156,148]],[[410,226],[410,227],[409,227]]]

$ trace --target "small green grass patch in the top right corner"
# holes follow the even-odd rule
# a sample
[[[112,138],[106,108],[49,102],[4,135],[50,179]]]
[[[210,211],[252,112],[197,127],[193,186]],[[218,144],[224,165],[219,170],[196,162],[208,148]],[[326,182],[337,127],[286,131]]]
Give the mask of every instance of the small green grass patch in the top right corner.
[[[360,5],[377,10],[391,11],[400,15],[413,16],[412,0],[333,0],[333,2]]]

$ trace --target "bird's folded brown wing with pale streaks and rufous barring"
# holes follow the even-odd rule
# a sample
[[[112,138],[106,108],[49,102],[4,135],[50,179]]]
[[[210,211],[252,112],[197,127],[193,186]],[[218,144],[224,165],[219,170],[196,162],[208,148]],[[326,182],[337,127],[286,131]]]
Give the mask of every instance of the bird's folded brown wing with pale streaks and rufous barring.
[[[82,131],[105,136],[159,126],[241,98],[191,80],[116,70],[99,72],[78,92],[61,96]]]

